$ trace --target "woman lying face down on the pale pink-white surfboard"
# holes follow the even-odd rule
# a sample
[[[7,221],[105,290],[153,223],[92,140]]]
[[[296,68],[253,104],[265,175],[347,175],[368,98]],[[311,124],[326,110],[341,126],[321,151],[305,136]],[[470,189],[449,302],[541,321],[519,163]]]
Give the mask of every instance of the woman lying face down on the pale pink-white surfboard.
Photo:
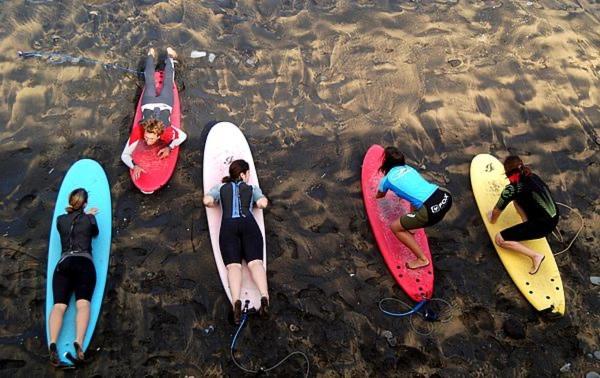
[[[258,186],[248,185],[250,165],[245,160],[234,160],[229,176],[215,185],[203,199],[207,207],[221,203],[223,218],[219,233],[219,247],[227,267],[227,280],[233,302],[233,320],[239,324],[242,316],[242,259],[246,260],[252,279],[260,291],[260,315],[266,316],[269,307],[267,273],[263,267],[263,237],[252,215],[252,206],[264,209],[269,201]]]

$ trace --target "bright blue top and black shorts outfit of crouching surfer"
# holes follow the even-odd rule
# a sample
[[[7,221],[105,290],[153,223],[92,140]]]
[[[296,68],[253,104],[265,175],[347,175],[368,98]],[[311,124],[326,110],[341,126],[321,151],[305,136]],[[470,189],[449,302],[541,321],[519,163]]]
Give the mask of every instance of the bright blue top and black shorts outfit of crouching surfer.
[[[408,165],[390,169],[379,182],[378,190],[382,193],[391,190],[412,204],[415,210],[400,217],[405,230],[432,226],[452,207],[452,195],[447,189],[428,182]]]

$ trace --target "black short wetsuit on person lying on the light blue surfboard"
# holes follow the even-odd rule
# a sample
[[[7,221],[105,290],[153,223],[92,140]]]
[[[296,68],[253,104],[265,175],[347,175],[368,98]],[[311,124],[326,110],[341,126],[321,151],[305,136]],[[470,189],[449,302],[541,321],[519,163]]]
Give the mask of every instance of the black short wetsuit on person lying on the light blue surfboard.
[[[96,287],[96,269],[92,260],[92,238],[98,235],[96,217],[75,211],[58,217],[56,222],[62,255],[52,278],[54,303],[69,304],[75,299],[91,300]]]

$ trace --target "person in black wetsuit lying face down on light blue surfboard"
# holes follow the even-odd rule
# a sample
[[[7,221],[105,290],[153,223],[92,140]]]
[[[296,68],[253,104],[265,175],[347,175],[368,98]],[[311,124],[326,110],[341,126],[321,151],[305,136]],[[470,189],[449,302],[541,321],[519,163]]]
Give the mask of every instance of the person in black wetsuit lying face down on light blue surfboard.
[[[62,254],[52,276],[54,306],[50,313],[50,363],[60,365],[56,340],[62,328],[65,311],[71,295],[75,293],[76,338],[73,347],[76,359],[83,361],[83,338],[90,320],[90,301],[96,287],[96,269],[92,260],[92,238],[98,235],[95,215],[98,209],[84,212],[88,193],[85,189],[75,189],[69,195],[67,214],[59,216],[56,227],[60,235]]]

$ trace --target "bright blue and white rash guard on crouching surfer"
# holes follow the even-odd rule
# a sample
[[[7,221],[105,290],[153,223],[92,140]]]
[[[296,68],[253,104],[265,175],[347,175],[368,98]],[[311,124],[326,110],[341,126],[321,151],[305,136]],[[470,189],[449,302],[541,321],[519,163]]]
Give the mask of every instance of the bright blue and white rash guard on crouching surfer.
[[[415,209],[420,209],[437,189],[437,185],[425,180],[419,172],[408,165],[390,169],[388,174],[383,176],[378,187],[382,193],[391,190],[398,197],[410,202]]]

